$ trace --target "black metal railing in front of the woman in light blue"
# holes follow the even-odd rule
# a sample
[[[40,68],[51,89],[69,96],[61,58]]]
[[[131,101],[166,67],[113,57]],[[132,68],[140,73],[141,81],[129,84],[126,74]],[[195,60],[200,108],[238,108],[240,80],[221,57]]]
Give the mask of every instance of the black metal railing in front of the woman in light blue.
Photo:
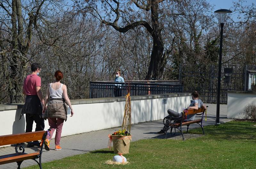
[[[111,81],[91,81],[90,98],[105,98],[125,96],[130,91],[131,96],[149,94],[166,94],[183,92],[183,85],[179,81],[126,81],[116,83]]]

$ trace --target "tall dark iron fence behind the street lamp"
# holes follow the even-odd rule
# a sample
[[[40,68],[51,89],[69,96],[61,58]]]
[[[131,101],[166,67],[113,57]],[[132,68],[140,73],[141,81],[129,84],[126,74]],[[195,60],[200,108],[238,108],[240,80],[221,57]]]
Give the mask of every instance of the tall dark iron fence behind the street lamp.
[[[223,66],[227,67],[227,66]],[[222,67],[222,70],[224,68]],[[256,66],[232,66],[233,72],[221,72],[221,89],[220,103],[227,104],[228,90],[245,91],[246,88],[246,70],[256,70]],[[230,80],[225,80],[225,78]],[[184,92],[193,92],[194,90],[200,93],[200,99],[204,103],[217,102],[217,82],[218,70],[211,65],[204,71],[189,71],[185,66],[180,68],[180,84],[183,84]]]

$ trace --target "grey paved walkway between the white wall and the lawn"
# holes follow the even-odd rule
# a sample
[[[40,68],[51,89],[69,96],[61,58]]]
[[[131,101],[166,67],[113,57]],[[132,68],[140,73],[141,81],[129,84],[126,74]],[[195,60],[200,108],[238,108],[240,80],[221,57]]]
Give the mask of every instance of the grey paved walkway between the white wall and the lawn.
[[[207,104],[209,106],[207,110],[207,121],[204,121],[204,125],[213,125],[215,124],[216,118],[216,105],[215,104]],[[166,113],[167,115],[167,113]],[[220,105],[220,122],[227,122],[231,119],[227,119],[227,105]],[[65,124],[64,124],[65,125]],[[190,128],[200,127],[198,124],[190,125]],[[140,139],[148,139],[148,138],[164,138],[165,135],[157,134],[157,131],[163,128],[162,120],[157,121],[149,121],[139,124],[133,124],[131,133],[132,133],[132,141],[137,141]],[[68,156],[74,156],[77,154],[87,153],[89,151],[98,150],[102,148],[107,148],[108,146],[108,134],[113,133],[115,130],[120,128],[111,128],[111,129],[103,129],[98,131],[92,131],[72,136],[62,137],[60,144],[62,150],[54,151],[54,140],[52,140],[50,144],[50,151],[45,151],[42,154],[42,161],[49,162],[56,159],[61,159]],[[188,137],[196,137],[198,135],[185,134],[185,139]],[[182,139],[181,135],[176,134],[176,136],[167,135],[169,139]],[[36,147],[27,148],[25,145],[25,152],[32,153],[38,151]],[[14,147],[5,147],[0,148],[0,156],[5,154],[10,154],[11,152],[15,152]],[[36,165],[34,160],[25,160],[22,162],[21,167],[26,167],[30,165]],[[17,163],[10,163],[5,165],[0,165],[1,169],[16,169]]]

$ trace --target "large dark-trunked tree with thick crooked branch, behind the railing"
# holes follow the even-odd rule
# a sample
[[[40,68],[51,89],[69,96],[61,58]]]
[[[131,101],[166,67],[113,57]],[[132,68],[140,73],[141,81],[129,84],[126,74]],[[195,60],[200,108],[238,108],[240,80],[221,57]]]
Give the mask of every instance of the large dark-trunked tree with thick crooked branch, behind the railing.
[[[164,0],[104,0],[100,2],[91,0],[84,3],[86,7],[82,10],[87,9],[103,24],[112,26],[118,32],[125,33],[135,27],[144,26],[153,39],[146,79],[162,78],[167,58],[170,54],[169,50],[164,50],[162,39],[163,24],[159,22],[159,18],[161,18],[159,6],[164,8],[164,5],[162,5],[165,3]],[[104,10],[105,14],[101,10]],[[144,15],[147,14],[150,17],[148,20],[144,20],[146,19]]]

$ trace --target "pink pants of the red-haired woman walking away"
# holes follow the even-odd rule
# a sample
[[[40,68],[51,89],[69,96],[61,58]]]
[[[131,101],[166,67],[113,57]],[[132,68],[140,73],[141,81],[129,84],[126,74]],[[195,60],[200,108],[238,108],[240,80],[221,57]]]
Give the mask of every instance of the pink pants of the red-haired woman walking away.
[[[62,118],[48,118],[48,122],[49,122],[49,126],[51,132],[50,132],[50,136],[47,135],[46,138],[47,139],[52,139],[52,135],[54,133],[54,130],[56,129],[56,135],[55,135],[55,145],[60,145],[60,136],[61,136],[61,131],[62,131],[62,126],[64,123],[64,119]]]

